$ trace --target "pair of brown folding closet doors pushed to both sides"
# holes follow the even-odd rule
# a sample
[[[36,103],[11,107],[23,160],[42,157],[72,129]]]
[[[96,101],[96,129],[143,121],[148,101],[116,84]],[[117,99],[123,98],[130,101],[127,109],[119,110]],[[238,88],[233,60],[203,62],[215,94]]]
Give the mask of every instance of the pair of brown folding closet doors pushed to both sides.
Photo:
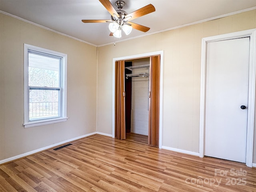
[[[115,63],[115,137],[126,138],[124,60]],[[148,144],[159,146],[160,55],[150,56]]]

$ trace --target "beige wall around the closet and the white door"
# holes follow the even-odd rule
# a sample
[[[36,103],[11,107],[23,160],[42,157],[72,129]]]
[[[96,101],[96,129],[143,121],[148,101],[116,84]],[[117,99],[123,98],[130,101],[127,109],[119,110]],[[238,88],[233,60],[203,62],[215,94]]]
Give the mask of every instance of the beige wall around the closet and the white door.
[[[255,28],[255,19],[256,12],[251,10],[119,42],[116,46],[100,47],[97,130],[112,134],[112,59],[163,50],[162,145],[199,152],[201,40],[203,37]],[[254,147],[254,162],[256,162],[256,147]]]

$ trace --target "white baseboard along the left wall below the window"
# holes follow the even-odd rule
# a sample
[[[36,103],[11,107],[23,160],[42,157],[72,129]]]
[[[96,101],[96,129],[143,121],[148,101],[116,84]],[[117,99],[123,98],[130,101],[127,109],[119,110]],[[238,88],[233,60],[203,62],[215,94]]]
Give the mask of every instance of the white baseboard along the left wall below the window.
[[[23,153],[23,154],[20,154],[20,155],[16,155],[14,157],[3,159],[3,160],[0,160],[0,164],[6,163],[6,162],[10,162],[10,161],[14,161],[16,159],[19,159],[19,158],[22,158],[22,157],[26,157],[28,155],[32,155],[32,154],[41,152],[41,151],[53,148],[53,147],[58,146],[58,145],[62,145],[64,143],[72,142],[74,140],[78,140],[78,139],[81,139],[81,138],[84,138],[84,137],[88,137],[88,136],[91,136],[91,135],[95,135],[95,134],[100,134],[100,133],[98,133],[98,132],[89,133],[89,134],[82,135],[82,136],[79,136],[79,137],[76,137],[76,138],[72,138],[72,139],[69,139],[69,140],[66,140],[66,141],[62,141],[62,142],[59,142],[59,143],[56,143],[56,144],[52,144],[52,145],[49,145],[49,146],[46,146],[46,147],[43,147],[43,148],[40,148],[40,149],[36,149],[36,150],[30,151],[30,152],[26,152],[26,153]]]

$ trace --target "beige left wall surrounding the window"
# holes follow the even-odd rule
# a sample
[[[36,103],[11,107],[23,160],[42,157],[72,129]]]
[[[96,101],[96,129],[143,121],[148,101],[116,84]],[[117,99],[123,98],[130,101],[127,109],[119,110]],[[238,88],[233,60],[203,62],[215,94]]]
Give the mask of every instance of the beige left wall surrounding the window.
[[[68,54],[66,122],[24,128],[23,44]],[[0,14],[0,160],[96,132],[97,48]]]

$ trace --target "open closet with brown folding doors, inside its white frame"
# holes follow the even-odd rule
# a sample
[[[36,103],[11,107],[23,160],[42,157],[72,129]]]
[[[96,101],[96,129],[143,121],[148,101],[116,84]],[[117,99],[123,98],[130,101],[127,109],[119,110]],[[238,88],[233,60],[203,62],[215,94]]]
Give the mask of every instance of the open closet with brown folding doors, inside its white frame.
[[[114,137],[159,147],[160,55],[116,60],[114,69]]]

